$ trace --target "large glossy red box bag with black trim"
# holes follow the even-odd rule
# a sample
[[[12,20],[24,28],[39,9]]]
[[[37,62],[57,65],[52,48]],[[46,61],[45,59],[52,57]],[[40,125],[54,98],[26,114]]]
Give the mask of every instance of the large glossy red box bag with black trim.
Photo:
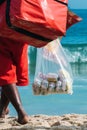
[[[42,47],[66,33],[68,0],[6,0],[0,5],[0,36]]]

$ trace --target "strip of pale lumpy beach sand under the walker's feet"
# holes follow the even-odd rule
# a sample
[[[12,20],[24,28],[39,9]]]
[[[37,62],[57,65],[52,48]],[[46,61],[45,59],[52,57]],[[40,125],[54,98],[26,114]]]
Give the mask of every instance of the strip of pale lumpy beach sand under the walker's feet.
[[[0,130],[87,130],[87,115],[32,115],[29,123],[20,125],[16,117],[0,119]]]

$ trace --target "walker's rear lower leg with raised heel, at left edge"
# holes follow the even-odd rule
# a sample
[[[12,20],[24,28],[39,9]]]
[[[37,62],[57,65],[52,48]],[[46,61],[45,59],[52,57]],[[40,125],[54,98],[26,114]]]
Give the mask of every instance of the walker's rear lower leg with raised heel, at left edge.
[[[0,99],[0,118],[4,118],[5,115],[9,113],[8,104],[9,104],[9,99],[5,96],[2,87],[1,99]]]

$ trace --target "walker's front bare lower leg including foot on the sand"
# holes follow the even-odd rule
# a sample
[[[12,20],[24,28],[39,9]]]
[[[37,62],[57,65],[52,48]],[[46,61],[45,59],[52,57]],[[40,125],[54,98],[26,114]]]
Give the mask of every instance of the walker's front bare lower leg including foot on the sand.
[[[16,84],[9,84],[9,85],[3,86],[3,91],[5,93],[5,96],[8,97],[9,101],[12,103],[12,105],[14,106],[14,108],[17,111],[18,122],[20,124],[28,123],[28,120],[29,120],[28,115],[25,113],[25,111],[22,107]]]

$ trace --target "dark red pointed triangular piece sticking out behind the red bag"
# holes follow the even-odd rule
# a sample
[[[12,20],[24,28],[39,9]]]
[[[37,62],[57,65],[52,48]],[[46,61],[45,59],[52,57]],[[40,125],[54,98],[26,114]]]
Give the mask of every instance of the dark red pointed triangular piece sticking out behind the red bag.
[[[80,22],[81,20],[82,20],[82,18],[80,18],[78,15],[76,15],[75,13],[68,10],[66,28],[67,29],[70,28],[72,25]]]

